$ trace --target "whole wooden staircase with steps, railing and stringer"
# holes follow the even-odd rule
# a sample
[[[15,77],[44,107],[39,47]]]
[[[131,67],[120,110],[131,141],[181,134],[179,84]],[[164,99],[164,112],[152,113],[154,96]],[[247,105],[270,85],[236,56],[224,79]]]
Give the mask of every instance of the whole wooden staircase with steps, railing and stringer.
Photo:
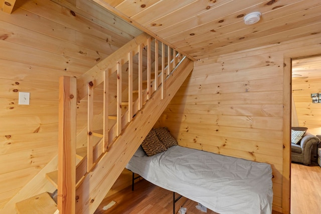
[[[193,66],[174,49],[141,34],[77,79],[61,77],[58,170],[46,175],[58,189],[59,213],[94,213]],[[110,100],[112,84],[117,90]],[[95,89],[103,90],[99,115],[94,115]],[[84,100],[87,137],[86,146],[79,147],[83,139],[76,139],[76,111]],[[29,213],[22,204],[42,204],[48,195],[17,203],[18,213]]]

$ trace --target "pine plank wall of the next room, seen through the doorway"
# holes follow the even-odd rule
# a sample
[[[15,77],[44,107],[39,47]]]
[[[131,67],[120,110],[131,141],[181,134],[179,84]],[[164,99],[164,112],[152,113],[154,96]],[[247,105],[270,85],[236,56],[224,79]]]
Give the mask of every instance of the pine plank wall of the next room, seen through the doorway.
[[[311,134],[321,134],[321,103],[312,103],[311,98],[312,93],[321,93],[321,78],[293,78],[292,90],[299,126],[307,127]]]

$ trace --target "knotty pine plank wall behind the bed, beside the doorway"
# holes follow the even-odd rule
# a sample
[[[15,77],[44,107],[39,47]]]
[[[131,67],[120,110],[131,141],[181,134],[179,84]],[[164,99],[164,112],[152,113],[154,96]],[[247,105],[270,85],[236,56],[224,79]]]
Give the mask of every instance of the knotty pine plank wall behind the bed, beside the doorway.
[[[287,62],[321,53],[319,39],[310,36],[195,62],[155,127],[168,126],[182,146],[271,164],[273,209],[288,213]]]

